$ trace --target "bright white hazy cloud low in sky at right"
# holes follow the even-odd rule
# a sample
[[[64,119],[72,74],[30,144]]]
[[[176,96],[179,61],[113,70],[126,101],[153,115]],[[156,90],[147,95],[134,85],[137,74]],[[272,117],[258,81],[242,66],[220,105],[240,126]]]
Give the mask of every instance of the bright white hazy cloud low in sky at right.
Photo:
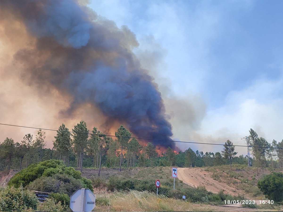
[[[283,79],[256,80],[247,89],[231,91],[225,104],[207,111],[200,129],[204,137],[244,137],[249,129],[271,142],[283,139]],[[241,142],[239,140],[239,142]],[[207,147],[209,148],[209,147]],[[246,150],[241,150],[245,153]]]

